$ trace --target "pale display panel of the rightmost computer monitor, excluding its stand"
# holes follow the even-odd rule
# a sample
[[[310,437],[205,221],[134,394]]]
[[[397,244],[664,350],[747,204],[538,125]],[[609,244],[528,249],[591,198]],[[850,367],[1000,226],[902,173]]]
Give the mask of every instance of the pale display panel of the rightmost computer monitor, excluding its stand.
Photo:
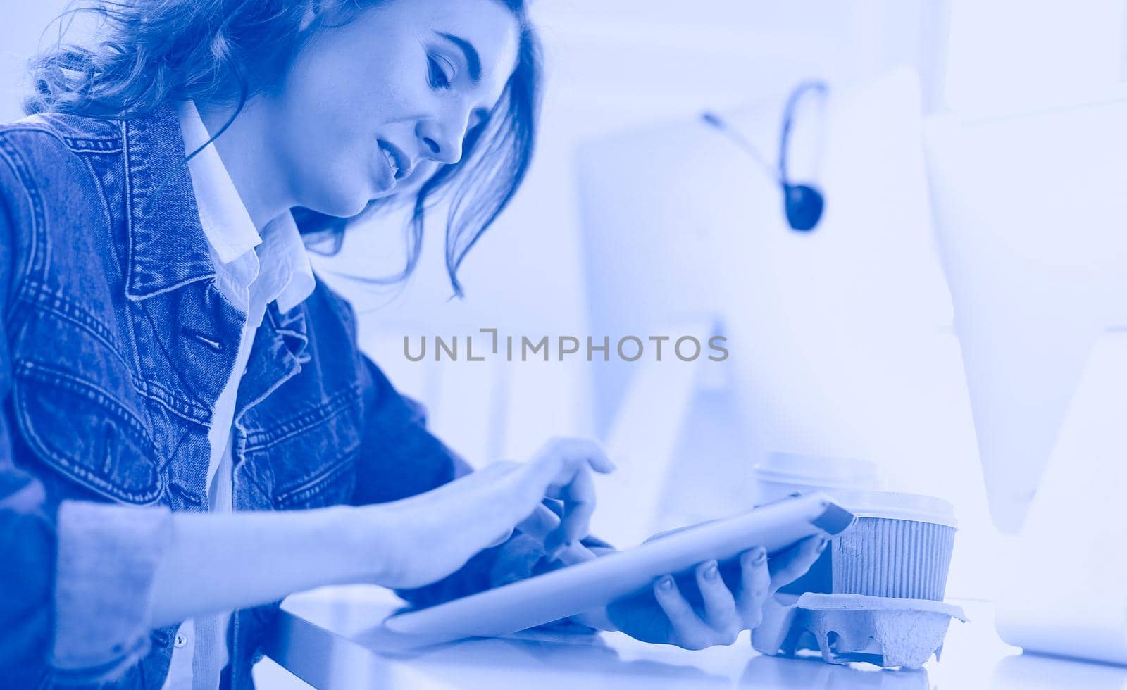
[[[983,471],[1004,532],[1022,525],[1093,346],[1127,328],[1125,122],[1120,97],[926,130]]]

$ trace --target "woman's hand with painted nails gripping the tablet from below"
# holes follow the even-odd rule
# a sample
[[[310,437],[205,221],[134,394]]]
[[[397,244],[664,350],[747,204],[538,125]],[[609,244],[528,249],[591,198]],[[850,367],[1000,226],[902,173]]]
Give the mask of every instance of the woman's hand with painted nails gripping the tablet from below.
[[[826,543],[823,537],[809,537],[771,558],[754,548],[739,556],[738,565],[702,563],[689,575],[665,575],[651,591],[611,603],[606,617],[642,642],[686,649],[730,645],[762,622],[769,598],[806,573]]]

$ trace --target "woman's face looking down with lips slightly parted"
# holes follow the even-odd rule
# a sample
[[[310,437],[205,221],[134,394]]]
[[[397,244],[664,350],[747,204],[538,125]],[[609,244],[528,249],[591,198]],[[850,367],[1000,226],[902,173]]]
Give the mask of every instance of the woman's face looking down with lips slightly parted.
[[[458,162],[516,64],[497,0],[392,0],[326,24],[261,106],[291,198],[329,215]]]

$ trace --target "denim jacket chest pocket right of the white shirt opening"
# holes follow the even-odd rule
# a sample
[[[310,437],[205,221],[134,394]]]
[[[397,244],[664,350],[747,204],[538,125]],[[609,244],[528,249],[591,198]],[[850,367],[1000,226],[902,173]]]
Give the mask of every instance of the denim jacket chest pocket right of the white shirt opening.
[[[257,423],[263,431],[248,434],[245,457],[251,472],[270,478],[276,510],[349,502],[362,434],[358,390],[349,388],[279,422]]]

